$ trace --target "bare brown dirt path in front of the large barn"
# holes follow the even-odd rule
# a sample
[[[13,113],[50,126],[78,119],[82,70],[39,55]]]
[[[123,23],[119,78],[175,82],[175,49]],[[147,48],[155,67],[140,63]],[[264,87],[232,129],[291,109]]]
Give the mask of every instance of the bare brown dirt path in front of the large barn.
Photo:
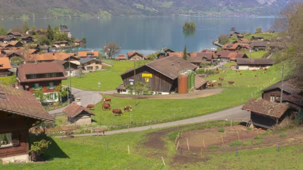
[[[204,90],[196,90],[194,92],[186,93],[186,94],[167,94],[167,95],[141,95],[140,99],[147,98],[156,98],[156,99],[190,99],[190,98],[200,98],[206,97],[210,95],[214,95],[223,91],[224,88],[212,88],[212,89],[204,89]],[[115,97],[120,98],[134,98],[133,95],[128,94],[108,94]],[[136,98],[139,98],[138,96]]]

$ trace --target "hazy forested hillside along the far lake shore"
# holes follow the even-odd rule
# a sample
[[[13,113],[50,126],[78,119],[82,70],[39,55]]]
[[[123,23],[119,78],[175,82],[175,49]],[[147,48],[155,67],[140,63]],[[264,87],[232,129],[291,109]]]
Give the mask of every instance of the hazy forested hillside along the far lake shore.
[[[1,18],[276,15],[294,0],[0,0]]]

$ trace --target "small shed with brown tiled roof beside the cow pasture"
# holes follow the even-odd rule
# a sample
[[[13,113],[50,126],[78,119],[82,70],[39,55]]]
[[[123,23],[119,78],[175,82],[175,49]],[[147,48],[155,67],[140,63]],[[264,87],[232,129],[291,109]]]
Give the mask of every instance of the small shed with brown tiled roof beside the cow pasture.
[[[67,115],[67,121],[74,124],[89,124],[92,123],[91,116],[95,115],[89,109],[72,102],[63,112]]]

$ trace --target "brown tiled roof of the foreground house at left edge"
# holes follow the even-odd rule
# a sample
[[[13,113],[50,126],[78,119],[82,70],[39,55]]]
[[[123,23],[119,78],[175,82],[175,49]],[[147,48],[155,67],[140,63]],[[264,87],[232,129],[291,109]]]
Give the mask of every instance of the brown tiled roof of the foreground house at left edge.
[[[32,93],[11,86],[0,85],[0,110],[38,120],[54,121]]]

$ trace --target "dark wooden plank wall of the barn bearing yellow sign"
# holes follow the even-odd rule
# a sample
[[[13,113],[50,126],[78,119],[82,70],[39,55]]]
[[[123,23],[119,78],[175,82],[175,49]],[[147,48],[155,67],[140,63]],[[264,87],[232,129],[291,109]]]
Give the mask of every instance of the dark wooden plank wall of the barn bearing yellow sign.
[[[147,66],[136,69],[136,81],[145,82],[145,78],[142,77],[142,74],[152,74],[152,78],[149,78],[147,84],[152,88],[152,91],[157,92],[170,92],[175,91],[177,87],[177,79],[171,80],[170,78],[152,70]],[[131,81],[135,80],[134,71],[121,75],[123,83],[125,86],[130,85]]]

